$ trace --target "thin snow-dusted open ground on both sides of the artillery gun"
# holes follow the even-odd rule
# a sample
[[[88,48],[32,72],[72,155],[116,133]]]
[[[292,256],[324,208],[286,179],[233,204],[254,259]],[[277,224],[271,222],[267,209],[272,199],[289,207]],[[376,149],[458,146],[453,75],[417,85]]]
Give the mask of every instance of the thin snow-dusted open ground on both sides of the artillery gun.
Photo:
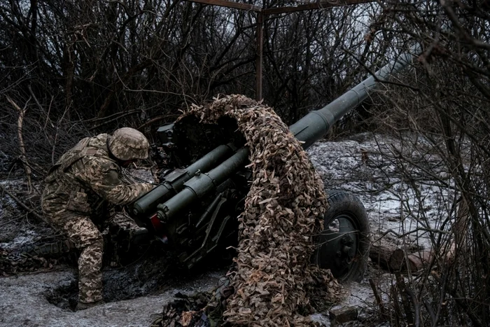
[[[419,248],[430,249],[431,237],[447,235],[444,223],[447,224],[449,212],[454,209],[448,204],[454,203],[455,195],[437,155],[420,150],[424,148],[423,139],[407,137],[412,139],[407,142],[358,134],[342,141],[318,142],[307,152],[326,188],[350,190],[360,198],[367,209],[374,238],[391,230],[388,235],[401,244],[416,243]],[[407,147],[407,143],[421,146],[415,151]],[[399,165],[401,155],[412,158],[412,164]],[[5,219],[13,219],[6,218],[4,210],[8,206],[15,206],[15,203],[3,197],[0,224],[6,223]],[[36,235],[28,228],[22,228],[8,244],[0,245],[5,249],[12,246],[12,242],[25,242],[29,237]],[[43,294],[53,288],[53,284],[73,278],[73,272],[0,278],[0,326],[148,326],[149,315],[161,312],[162,305],[173,293],[183,289],[192,292],[211,288],[216,273],[202,274],[185,286],[168,286],[160,295],[112,302],[85,312],[60,309],[45,300]],[[390,278],[386,272],[377,272],[379,283]],[[346,290],[350,295],[340,305],[362,307],[374,303],[367,281],[346,285]],[[126,320],[125,315],[128,316]],[[314,319],[323,326],[330,325],[326,315],[316,314]]]

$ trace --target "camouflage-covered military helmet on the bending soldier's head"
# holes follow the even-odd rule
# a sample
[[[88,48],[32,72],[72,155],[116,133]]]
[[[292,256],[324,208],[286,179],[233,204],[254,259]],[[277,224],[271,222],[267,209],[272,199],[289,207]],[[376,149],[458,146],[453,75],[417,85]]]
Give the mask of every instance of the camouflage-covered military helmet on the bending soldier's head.
[[[146,159],[150,148],[144,134],[130,127],[113,132],[107,145],[109,151],[119,160]]]

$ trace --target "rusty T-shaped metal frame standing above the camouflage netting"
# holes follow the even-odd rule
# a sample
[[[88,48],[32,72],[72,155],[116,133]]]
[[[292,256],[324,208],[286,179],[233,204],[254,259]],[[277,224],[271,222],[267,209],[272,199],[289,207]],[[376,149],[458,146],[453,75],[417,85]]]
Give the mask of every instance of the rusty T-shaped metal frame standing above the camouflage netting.
[[[294,13],[297,11],[311,11],[314,9],[327,9],[339,6],[349,6],[353,4],[367,4],[375,2],[377,0],[332,0],[314,2],[311,4],[302,4],[299,6],[288,6],[279,8],[262,8],[251,4],[243,4],[241,2],[228,1],[228,0],[185,0],[189,2],[196,2],[198,4],[207,4],[211,6],[221,6],[228,8],[236,8],[244,11],[253,11],[257,13],[255,22],[257,24],[256,38],[257,38],[257,60],[255,61],[255,99],[262,99],[262,60],[263,60],[263,44],[264,44],[264,21],[267,15],[278,15],[281,13]]]

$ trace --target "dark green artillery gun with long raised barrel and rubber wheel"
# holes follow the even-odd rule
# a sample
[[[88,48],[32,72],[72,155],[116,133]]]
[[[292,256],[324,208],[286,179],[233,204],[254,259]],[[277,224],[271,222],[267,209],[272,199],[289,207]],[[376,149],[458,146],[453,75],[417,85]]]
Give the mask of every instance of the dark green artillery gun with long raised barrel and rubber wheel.
[[[368,97],[379,81],[403,69],[420,48],[379,69],[318,111],[311,111],[290,132],[304,149],[322,139],[342,116]],[[153,235],[169,243],[182,265],[191,268],[211,253],[237,242],[237,216],[244,209],[251,172],[244,137],[237,123],[221,118],[216,125],[188,116],[158,129],[168,169],[159,186],[130,205],[130,215]],[[316,237],[311,262],[328,268],[342,281],[363,278],[369,251],[369,222],[353,194],[327,190],[330,208]]]

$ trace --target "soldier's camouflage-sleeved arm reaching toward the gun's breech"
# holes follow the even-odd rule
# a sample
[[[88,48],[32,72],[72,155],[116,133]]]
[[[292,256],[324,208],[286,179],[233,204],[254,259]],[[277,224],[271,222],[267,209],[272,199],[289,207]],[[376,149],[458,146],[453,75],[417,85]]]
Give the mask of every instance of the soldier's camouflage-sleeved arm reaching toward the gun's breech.
[[[118,166],[111,160],[103,158],[90,158],[84,162],[83,179],[99,196],[116,205],[125,205],[133,202],[141,195],[150,191],[154,185],[151,183],[138,183],[127,185],[121,181]]]

